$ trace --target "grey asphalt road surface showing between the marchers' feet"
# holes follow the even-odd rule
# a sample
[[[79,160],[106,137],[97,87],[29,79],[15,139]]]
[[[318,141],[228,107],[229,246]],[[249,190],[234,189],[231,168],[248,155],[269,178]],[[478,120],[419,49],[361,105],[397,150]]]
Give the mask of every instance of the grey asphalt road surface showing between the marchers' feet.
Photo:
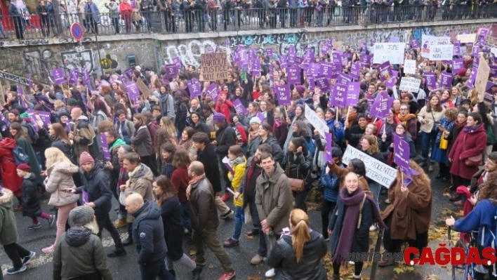
[[[435,179],[437,172],[434,171],[430,173],[430,178],[432,178],[432,194],[433,194],[433,209],[432,209],[432,225],[436,229],[438,234],[437,239],[430,242],[430,246],[435,248],[439,243],[446,242],[446,236],[443,234],[442,220],[446,218],[446,215],[450,211],[459,211],[456,206],[449,203],[446,196],[443,195],[444,188],[449,184],[447,182],[441,182]],[[385,207],[383,201],[386,199],[385,195],[380,196],[380,201],[382,203],[382,208]],[[113,208],[117,206],[117,201],[112,199]],[[229,204],[232,206],[231,202]],[[321,216],[320,212],[314,210],[314,204],[311,204],[309,214],[311,218],[311,227],[315,230],[321,230]],[[49,207],[44,201],[43,210],[48,212]],[[111,218],[114,220],[117,214],[114,210],[111,211]],[[27,227],[31,225],[31,219],[27,217],[22,217],[21,213],[15,213],[18,222],[18,233],[19,233],[19,244],[27,248],[28,250],[35,251],[37,253],[36,257],[32,262],[30,262],[28,269],[25,272],[15,275],[6,275],[6,269],[11,267],[11,260],[8,259],[3,250],[0,251],[0,263],[1,269],[4,272],[5,279],[51,279],[52,274],[52,258],[51,255],[45,255],[41,252],[41,248],[49,246],[55,239],[55,224],[53,228],[48,228],[46,220],[41,220],[43,227],[40,229],[29,230]],[[438,227],[437,227],[438,226]],[[126,227],[118,229],[121,233],[121,237],[125,238]],[[234,220],[228,218],[227,220],[220,220],[220,226],[218,228],[218,234],[220,240],[223,241],[229,238],[233,232]],[[237,272],[237,279],[265,279],[264,273],[268,269],[266,265],[251,265],[250,260],[257,253],[258,248],[258,238],[248,239],[244,233],[251,229],[251,225],[244,225],[242,229],[242,236],[240,240],[240,246],[234,248],[226,248],[227,253],[229,253],[230,258],[234,264],[234,268]],[[430,231],[431,232],[431,231]],[[440,233],[442,232],[442,233]],[[371,234],[374,239],[376,234]],[[446,235],[446,234],[445,234]],[[103,244],[106,251],[111,251],[113,249],[113,241],[110,238],[108,232],[103,233]],[[371,244],[373,246],[374,244]],[[194,247],[189,244],[184,244],[185,253],[194,253]],[[107,265],[112,272],[114,279],[140,279],[140,272],[138,269],[138,264],[136,263],[136,253],[132,246],[126,247],[128,254],[123,257],[118,258],[107,258]],[[222,267],[216,257],[208,250],[206,250],[207,265],[204,267],[201,279],[211,280],[218,279],[220,274],[223,273]],[[352,266],[349,266],[352,269]],[[411,269],[411,268],[408,268]],[[415,266],[412,271],[406,271],[406,267],[400,265],[399,267],[384,267],[378,268],[376,273],[376,279],[412,279],[412,280],[426,280],[426,279],[449,279],[450,272],[447,267],[430,267],[430,266]],[[395,272],[397,270],[397,273]],[[363,270],[363,279],[369,279],[370,268],[366,267]],[[190,279],[191,275],[177,269],[177,279]],[[345,279],[345,278],[344,278]]]

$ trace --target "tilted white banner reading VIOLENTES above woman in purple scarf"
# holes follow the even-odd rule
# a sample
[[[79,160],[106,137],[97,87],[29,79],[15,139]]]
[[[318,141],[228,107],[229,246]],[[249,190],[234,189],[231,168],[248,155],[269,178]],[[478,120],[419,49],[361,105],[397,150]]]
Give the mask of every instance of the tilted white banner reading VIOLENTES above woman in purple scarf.
[[[387,164],[383,164],[383,162],[378,161],[378,159],[373,158],[373,156],[369,156],[369,154],[348,145],[342,156],[342,162],[343,164],[349,164],[352,159],[364,161],[364,165],[366,166],[366,177],[378,182],[378,184],[384,187],[389,188],[397,176],[397,169],[392,168]]]

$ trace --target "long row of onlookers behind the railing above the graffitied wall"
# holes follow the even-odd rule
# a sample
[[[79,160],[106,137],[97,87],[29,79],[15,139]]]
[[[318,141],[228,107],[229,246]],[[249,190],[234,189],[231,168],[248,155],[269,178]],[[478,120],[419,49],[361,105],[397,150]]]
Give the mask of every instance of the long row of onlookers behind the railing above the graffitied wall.
[[[67,3],[66,3],[67,2]],[[217,32],[260,28],[304,28],[329,25],[493,18],[497,1],[492,0],[110,0],[100,8],[93,0],[41,0],[27,7],[24,0],[8,5],[7,28],[17,39],[25,32],[41,29],[43,37],[58,36],[62,29],[79,22],[86,32],[99,34],[109,27],[114,34],[151,32],[152,13],[160,15],[165,32]],[[0,14],[1,18],[1,14]],[[164,28],[163,27],[163,28]],[[157,31],[157,30],[155,30]],[[28,36],[32,38],[30,34]]]

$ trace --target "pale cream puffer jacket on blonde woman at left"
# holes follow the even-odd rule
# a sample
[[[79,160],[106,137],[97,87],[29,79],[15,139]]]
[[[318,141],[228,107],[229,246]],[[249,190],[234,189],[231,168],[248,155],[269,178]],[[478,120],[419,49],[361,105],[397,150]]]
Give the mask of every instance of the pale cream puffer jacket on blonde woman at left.
[[[79,199],[79,194],[65,192],[65,189],[74,188],[72,174],[78,172],[78,166],[60,161],[47,168],[47,178],[44,181],[45,189],[51,193],[48,205],[65,206]]]

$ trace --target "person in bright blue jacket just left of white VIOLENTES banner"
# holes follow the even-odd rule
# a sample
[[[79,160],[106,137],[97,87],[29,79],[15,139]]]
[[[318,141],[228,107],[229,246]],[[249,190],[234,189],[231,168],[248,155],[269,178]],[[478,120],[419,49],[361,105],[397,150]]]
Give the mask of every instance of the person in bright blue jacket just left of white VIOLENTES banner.
[[[333,147],[331,150],[331,156],[333,156],[333,161],[337,166],[345,168],[342,164],[342,150],[338,147]],[[333,212],[336,206],[336,199],[338,198],[338,189],[340,189],[340,177],[335,173],[330,172],[328,163],[324,164],[321,169],[321,185],[324,189],[324,201],[323,208],[321,209],[321,221],[322,221],[322,234],[324,239],[327,241],[328,236],[328,224],[330,213]]]

